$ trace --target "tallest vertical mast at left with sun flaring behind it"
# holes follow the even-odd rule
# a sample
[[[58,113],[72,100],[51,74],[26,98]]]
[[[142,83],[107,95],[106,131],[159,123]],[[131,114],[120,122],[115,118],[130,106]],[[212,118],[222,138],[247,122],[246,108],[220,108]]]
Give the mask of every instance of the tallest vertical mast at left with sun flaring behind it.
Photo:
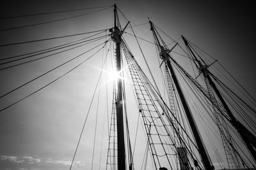
[[[117,13],[116,4],[114,4],[114,29],[111,38],[116,44],[116,71],[120,74],[122,70],[120,44],[122,32],[116,25]],[[116,90],[116,126],[117,126],[117,166],[118,170],[125,170],[125,143],[124,143],[124,116],[123,116],[123,97],[122,97],[122,80],[120,76],[117,79]]]

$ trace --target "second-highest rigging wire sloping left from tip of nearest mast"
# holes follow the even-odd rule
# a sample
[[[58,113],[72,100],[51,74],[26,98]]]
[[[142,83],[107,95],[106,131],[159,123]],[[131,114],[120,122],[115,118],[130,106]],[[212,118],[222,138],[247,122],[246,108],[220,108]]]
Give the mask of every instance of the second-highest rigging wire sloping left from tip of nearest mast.
[[[99,11],[103,11],[103,10],[107,10],[109,8],[111,8],[111,7],[104,8],[102,10],[97,10],[97,11],[92,11],[92,12],[88,12],[88,13],[83,13],[83,14],[80,14],[80,15],[75,15],[75,16],[72,16],[72,17],[61,18],[61,19],[58,19],[58,20],[51,20],[51,21],[47,21],[47,22],[40,22],[40,23],[37,23],[37,24],[23,25],[23,26],[19,26],[19,27],[11,27],[11,28],[8,28],[8,29],[0,29],[0,32],[1,31],[9,31],[9,30],[13,30],[13,29],[21,29],[21,28],[25,28],[25,27],[32,27],[32,26],[36,26],[36,25],[49,24],[49,23],[52,23],[52,22],[58,22],[58,21],[61,21],[61,20],[68,20],[68,19],[71,19],[71,18],[82,17],[84,15],[88,15],[88,14],[99,12]]]

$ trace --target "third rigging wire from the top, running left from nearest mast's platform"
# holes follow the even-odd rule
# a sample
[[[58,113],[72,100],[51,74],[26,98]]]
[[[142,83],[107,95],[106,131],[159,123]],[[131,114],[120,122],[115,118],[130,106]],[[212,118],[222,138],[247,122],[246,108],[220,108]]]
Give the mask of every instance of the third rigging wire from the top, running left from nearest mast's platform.
[[[20,45],[20,44],[25,44],[25,43],[35,43],[38,41],[45,41],[45,40],[50,40],[50,39],[58,39],[58,38],[67,38],[70,36],[80,36],[83,34],[90,34],[93,32],[100,32],[100,31],[107,31],[108,29],[101,29],[98,31],[90,31],[90,32],[82,32],[82,33],[77,33],[77,34],[70,34],[70,35],[66,35],[66,36],[57,36],[57,37],[51,37],[51,38],[44,38],[44,39],[35,39],[35,40],[31,40],[31,41],[23,41],[23,42],[18,42],[18,43],[10,43],[10,44],[5,44],[5,45],[0,45],[0,46],[10,46],[10,45]],[[3,60],[3,59],[0,59]]]

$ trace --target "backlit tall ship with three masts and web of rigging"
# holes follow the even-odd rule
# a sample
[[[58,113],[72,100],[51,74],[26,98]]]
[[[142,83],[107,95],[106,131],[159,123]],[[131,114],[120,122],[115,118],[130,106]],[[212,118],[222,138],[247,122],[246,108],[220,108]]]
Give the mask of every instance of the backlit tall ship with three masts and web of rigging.
[[[90,159],[86,169],[255,169],[256,101],[250,93],[218,60],[185,35],[174,40],[148,18],[143,25],[147,25],[145,31],[150,32],[152,40],[141,38],[134,31],[138,25],[132,24],[116,4],[92,8],[90,14],[106,9],[113,11],[112,25],[106,29],[0,45],[2,49],[19,45],[25,48],[31,43],[63,39],[56,45],[49,43],[47,48],[35,45],[35,50],[1,57],[3,74],[27,66],[36,70],[49,64],[45,60],[51,60],[37,76],[1,93],[2,114],[13,106],[19,108],[30,97],[44,94],[45,89],[55,85],[61,88],[59,81],[64,82],[70,74],[86,74],[81,94],[87,101],[80,106],[85,113],[79,113],[83,121],[76,127],[69,169],[77,169],[76,160],[82,153],[90,155],[86,157]],[[70,18],[74,16],[50,22]],[[9,29],[44,24],[47,22]],[[148,48],[155,48],[149,57]],[[86,65],[90,60],[92,65]],[[84,65],[87,72],[81,69]],[[33,90],[26,90],[31,84],[35,85]],[[93,89],[88,90],[88,84],[93,84]],[[20,92],[22,89],[26,92]],[[19,96],[13,97],[17,92]],[[52,96],[58,94],[52,92]],[[78,117],[72,108],[69,113]]]

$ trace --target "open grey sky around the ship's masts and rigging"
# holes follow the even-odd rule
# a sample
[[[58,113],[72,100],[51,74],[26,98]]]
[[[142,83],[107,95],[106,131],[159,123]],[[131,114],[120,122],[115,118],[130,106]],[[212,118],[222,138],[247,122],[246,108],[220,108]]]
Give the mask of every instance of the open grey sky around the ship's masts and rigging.
[[[180,35],[183,35],[195,45],[204,49],[205,52],[214,56],[253,97],[256,97],[256,69],[254,66],[256,38],[254,11],[256,9],[255,4],[252,3],[241,1],[223,3],[223,1],[177,2],[165,0],[12,1],[12,3],[4,2],[1,4],[0,14],[1,17],[7,17],[95,6],[111,6],[114,3],[124,13],[125,17],[131,21],[132,25],[143,24],[140,27],[134,27],[134,30],[138,31],[138,35],[141,38],[153,41],[150,27],[146,24],[149,17],[157,27],[161,28],[173,39],[180,39]],[[83,11],[1,19],[0,29],[46,22],[80,13],[83,13]],[[113,27],[112,14],[113,10],[108,9],[51,24],[0,31],[0,45],[109,29]],[[122,20],[122,27],[124,25],[125,22]],[[128,31],[131,32],[131,30]],[[129,35],[126,36],[129,40],[132,38]],[[166,40],[166,43],[172,42],[168,38],[164,40]],[[0,46],[1,59],[60,45],[66,41],[69,41],[69,39],[44,41],[29,45]],[[147,42],[140,42],[142,47],[148,46]],[[133,52],[138,54],[138,62],[143,63],[138,46],[132,43],[131,46],[134,47]],[[151,45],[150,48],[154,49],[154,46]],[[153,63],[150,67],[155,70],[159,67],[159,64],[154,62],[157,61],[154,58],[155,54],[153,54],[155,51],[146,49],[145,54],[148,54],[148,60]],[[9,92],[82,51],[83,49],[79,49],[67,52],[65,55],[51,57],[51,59],[38,60],[0,71],[2,80],[0,93]],[[86,57],[83,59],[86,59]],[[86,62],[83,67],[81,66],[76,71],[72,71],[65,78],[61,78],[35,95],[1,111],[0,169],[69,169],[70,161],[74,155],[79,134],[83,127],[83,121],[93,96],[93,90],[99,77],[101,62],[102,53],[98,57],[93,57],[90,62]],[[49,76],[30,83],[7,97],[1,98],[0,109],[34,92],[45,83],[49,83],[54,78],[65,73],[77,63],[78,61],[73,62],[64,68],[58,69],[58,71],[52,72]],[[154,72],[153,74],[157,73]],[[105,81],[102,81],[101,89],[106,89],[104,83]],[[111,89],[111,85],[107,88]],[[97,122],[99,127],[97,127],[95,141],[97,146],[95,148],[96,153],[104,152],[101,151],[101,148],[106,147],[106,144],[103,144],[102,141],[108,140],[106,115],[100,114],[107,107],[104,104],[104,97],[106,98],[106,94],[102,94],[100,96],[102,100],[99,100],[99,120]],[[108,100],[111,103],[111,94],[108,94]],[[88,117],[88,124],[86,124],[84,135],[81,138],[82,144],[79,146],[77,157],[74,161],[74,169],[91,168],[94,138],[92,131],[95,129],[95,117],[97,116],[95,111],[97,108],[96,101],[93,102],[92,108],[93,113]],[[134,118],[136,115],[130,117]],[[131,132],[135,132],[135,130],[131,129]],[[141,132],[141,136],[143,136],[143,132]],[[142,143],[143,139],[140,140]],[[140,146],[143,145],[140,145],[139,142],[138,149],[143,152],[145,148]],[[105,168],[105,163],[102,163],[106,160],[106,154],[104,154],[101,154],[102,157],[99,156],[100,154],[95,155],[95,162],[97,162],[94,166],[95,169]],[[100,165],[104,166],[99,166],[98,163],[100,161]]]

